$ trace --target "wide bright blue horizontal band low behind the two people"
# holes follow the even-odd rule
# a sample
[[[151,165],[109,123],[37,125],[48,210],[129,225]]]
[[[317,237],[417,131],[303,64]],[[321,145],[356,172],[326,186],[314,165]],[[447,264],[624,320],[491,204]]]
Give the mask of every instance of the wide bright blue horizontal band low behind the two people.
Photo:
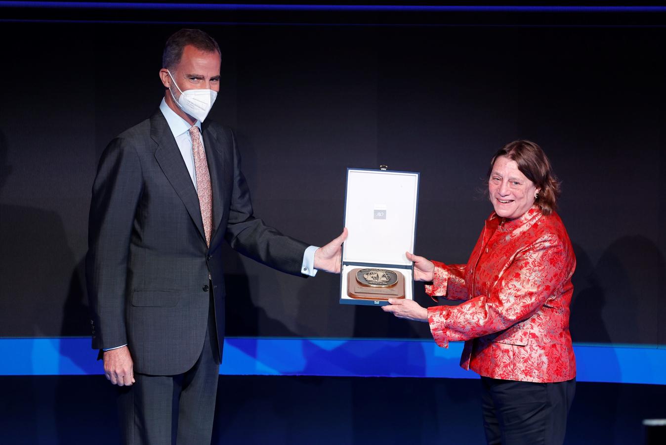
[[[666,349],[574,346],[579,382],[666,384]],[[462,343],[432,340],[226,338],[220,374],[477,378]],[[0,375],[103,374],[89,338],[0,338]]]

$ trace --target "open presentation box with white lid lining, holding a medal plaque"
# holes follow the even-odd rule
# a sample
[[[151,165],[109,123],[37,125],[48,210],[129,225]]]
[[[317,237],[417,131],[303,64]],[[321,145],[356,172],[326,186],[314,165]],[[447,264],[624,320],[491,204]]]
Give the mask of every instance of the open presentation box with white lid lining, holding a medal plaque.
[[[404,298],[414,299],[414,266],[405,252],[414,252],[418,183],[414,172],[347,169],[344,226],[349,236],[342,246],[340,304],[388,304],[386,297],[372,294],[350,296],[349,285],[356,280],[350,272],[358,268],[402,274]]]

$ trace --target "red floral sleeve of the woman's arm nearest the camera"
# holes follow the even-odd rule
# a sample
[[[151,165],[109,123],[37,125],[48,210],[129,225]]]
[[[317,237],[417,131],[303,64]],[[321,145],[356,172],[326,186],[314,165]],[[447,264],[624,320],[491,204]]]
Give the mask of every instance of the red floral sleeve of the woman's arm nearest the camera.
[[[569,276],[569,258],[555,237],[544,237],[520,252],[487,295],[458,306],[428,308],[430,332],[438,345],[499,332],[532,316]]]

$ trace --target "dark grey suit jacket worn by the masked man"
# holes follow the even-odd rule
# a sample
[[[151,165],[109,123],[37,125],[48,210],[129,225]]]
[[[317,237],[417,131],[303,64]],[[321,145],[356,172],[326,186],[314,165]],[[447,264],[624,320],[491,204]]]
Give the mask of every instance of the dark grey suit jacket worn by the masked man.
[[[233,133],[206,121],[202,135],[213,198],[210,248],[196,190],[161,111],[111,141],[93,185],[86,260],[93,348],[129,344],[143,374],[180,374],[198,358],[209,274],[221,349],[222,240],[295,275],[307,247],[252,215]]]

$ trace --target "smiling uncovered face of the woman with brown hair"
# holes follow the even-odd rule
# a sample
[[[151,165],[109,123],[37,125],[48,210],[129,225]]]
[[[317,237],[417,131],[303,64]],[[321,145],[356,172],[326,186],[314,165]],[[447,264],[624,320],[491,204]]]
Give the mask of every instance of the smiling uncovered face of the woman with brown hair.
[[[488,195],[499,217],[515,219],[534,204],[539,189],[518,169],[517,163],[506,156],[495,160],[490,178]]]

